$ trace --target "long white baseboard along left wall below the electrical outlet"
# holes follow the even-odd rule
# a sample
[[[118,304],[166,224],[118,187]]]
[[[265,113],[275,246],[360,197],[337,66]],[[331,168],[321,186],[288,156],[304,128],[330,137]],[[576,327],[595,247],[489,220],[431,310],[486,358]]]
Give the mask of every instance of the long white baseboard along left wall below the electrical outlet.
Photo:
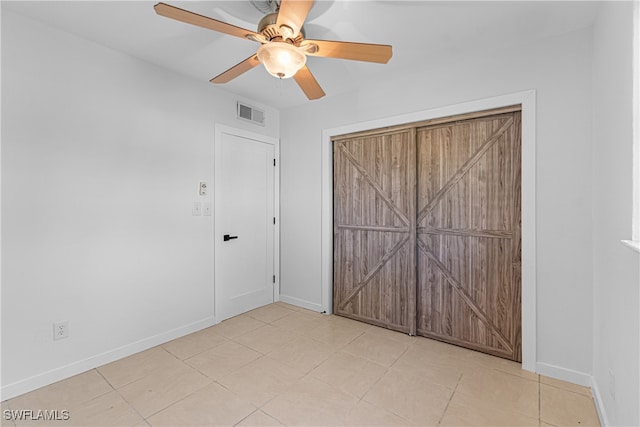
[[[127,344],[122,347],[97,354],[95,356],[91,356],[87,359],[79,360],[68,365],[34,375],[32,377],[25,378],[11,384],[7,384],[0,388],[0,400],[4,401],[7,399],[12,399],[16,396],[20,396],[21,394],[28,393],[40,387],[53,384],[57,381],[67,379],[74,375],[78,375],[107,363],[122,359],[123,357],[139,353],[141,351],[150,349],[151,347],[155,347],[173,339],[180,338],[184,335],[188,335],[201,329],[208,328],[215,325],[216,323],[217,322],[215,321],[214,317],[207,317],[205,319],[198,320],[197,322],[193,322],[188,325],[181,326],[179,328],[175,328],[148,338],[144,338],[131,344]]]

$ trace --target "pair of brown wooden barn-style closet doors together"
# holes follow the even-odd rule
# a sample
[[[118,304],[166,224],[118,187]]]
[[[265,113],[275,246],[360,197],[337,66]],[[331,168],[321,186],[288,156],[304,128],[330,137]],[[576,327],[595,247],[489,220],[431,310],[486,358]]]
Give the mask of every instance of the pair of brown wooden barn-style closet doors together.
[[[520,106],[332,143],[334,313],[520,361]]]

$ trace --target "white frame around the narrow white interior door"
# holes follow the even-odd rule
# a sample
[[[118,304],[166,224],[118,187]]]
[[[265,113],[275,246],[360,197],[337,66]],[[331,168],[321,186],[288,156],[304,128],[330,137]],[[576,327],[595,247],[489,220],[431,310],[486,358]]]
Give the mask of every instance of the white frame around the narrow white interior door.
[[[273,156],[276,164],[273,171],[273,215],[276,218],[273,229],[273,274],[276,276],[275,283],[273,284],[273,301],[280,301],[280,140],[278,138],[262,135],[255,132],[250,132],[244,129],[238,129],[219,123],[215,124],[215,133],[213,140],[213,206],[212,206],[212,218],[213,218],[213,263],[212,263],[212,278],[213,283],[211,287],[211,298],[213,300],[213,318],[215,323],[219,323],[219,310],[216,303],[216,236],[222,234],[222,230],[218,230],[218,224],[216,224],[216,212],[219,203],[218,182],[216,180],[216,165],[218,154],[221,149],[222,136],[224,134],[233,135],[240,138],[252,139],[264,144],[273,146]]]

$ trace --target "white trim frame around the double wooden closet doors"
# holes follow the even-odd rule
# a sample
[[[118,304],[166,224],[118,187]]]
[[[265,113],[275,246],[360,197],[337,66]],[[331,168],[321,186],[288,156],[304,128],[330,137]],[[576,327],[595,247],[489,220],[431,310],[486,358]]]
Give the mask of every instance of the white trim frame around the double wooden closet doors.
[[[522,105],[522,368],[536,372],[536,91],[463,102],[322,131],[322,309],[333,312],[333,144],[331,138],[388,126]]]

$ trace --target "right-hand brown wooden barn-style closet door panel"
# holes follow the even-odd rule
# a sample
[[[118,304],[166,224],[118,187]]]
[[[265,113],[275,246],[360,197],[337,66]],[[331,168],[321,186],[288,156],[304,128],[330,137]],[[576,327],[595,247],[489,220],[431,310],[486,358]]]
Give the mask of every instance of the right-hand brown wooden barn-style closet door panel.
[[[417,130],[418,334],[521,360],[520,112]]]

